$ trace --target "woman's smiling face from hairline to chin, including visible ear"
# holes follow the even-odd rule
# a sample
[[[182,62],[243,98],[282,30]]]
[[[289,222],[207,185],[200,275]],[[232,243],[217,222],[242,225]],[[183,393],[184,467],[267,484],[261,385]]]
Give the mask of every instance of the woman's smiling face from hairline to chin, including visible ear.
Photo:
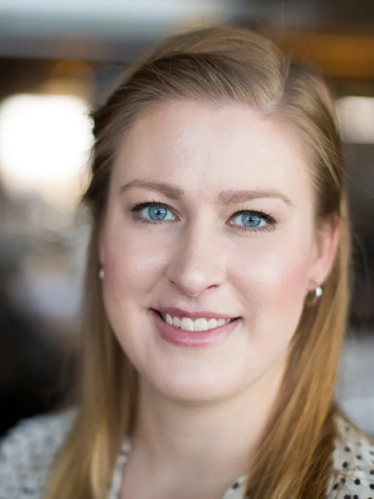
[[[100,240],[103,294],[127,356],[164,395],[225,399],[286,358],[334,257],[331,232],[316,243],[303,158],[282,125],[234,104],[163,104],[127,135]]]

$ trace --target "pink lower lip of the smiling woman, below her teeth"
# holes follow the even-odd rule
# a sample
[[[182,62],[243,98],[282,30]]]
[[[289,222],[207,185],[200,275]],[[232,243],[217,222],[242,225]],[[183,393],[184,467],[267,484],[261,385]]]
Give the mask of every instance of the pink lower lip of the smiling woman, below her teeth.
[[[165,322],[155,310],[151,309],[151,313],[154,317],[156,329],[163,340],[173,343],[173,345],[192,348],[219,345],[233,332],[238,323],[238,319],[236,319],[228,324],[206,331],[185,331]]]

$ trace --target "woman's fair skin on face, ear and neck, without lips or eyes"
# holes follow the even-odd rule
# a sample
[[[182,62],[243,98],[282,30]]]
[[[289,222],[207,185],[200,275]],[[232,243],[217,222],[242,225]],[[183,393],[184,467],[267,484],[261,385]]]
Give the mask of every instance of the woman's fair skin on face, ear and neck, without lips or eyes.
[[[252,197],[223,204],[227,190]],[[170,220],[137,220],[150,220],[130,211],[145,200],[167,204]],[[244,232],[240,210],[276,223]],[[122,499],[216,499],[246,471],[305,294],[326,279],[338,238],[334,224],[316,231],[310,165],[284,125],[244,105],[183,100],[136,122],[113,170],[99,248],[107,314],[141,380]],[[157,334],[149,309],[160,306],[241,319],[221,344],[186,348]]]

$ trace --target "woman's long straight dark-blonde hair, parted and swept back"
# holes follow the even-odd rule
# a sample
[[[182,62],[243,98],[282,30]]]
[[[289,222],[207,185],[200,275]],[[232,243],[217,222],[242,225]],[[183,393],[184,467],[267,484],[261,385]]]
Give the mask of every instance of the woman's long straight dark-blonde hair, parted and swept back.
[[[346,328],[350,253],[334,105],[318,72],[291,60],[270,39],[229,26],[167,39],[132,65],[93,113],[92,178],[83,198],[91,210],[92,234],[80,403],[45,497],[105,498],[123,438],[133,431],[138,377],[105,314],[98,236],[120,141],[143,111],[174,98],[243,103],[292,127],[308,145],[316,221],[338,217],[335,263],[319,302],[303,310],[283,385],[248,479],[252,499],[324,498],[337,434],[333,392]]]

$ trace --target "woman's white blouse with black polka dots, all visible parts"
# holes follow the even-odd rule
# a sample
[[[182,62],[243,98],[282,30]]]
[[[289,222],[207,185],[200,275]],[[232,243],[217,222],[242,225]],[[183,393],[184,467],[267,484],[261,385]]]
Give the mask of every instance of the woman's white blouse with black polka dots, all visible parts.
[[[41,499],[53,464],[74,420],[74,410],[20,422],[0,441],[0,499]],[[374,446],[355,428],[338,420],[334,451],[335,472],[326,499],[374,499]],[[123,442],[108,499],[118,499],[122,470],[131,450]],[[222,499],[244,499],[245,476]]]

